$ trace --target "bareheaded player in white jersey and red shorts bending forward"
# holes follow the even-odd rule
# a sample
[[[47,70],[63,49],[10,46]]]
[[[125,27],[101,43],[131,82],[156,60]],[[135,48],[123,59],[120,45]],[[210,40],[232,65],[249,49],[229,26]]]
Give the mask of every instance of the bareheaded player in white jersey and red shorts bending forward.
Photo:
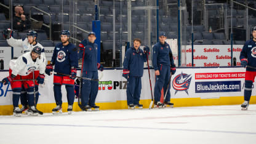
[[[44,71],[46,68],[44,58],[40,57],[42,52],[41,47],[34,47],[31,52],[27,52],[15,61],[13,65],[10,65],[9,76],[2,79],[4,84],[9,84],[12,87],[12,101],[14,105],[14,115],[20,116],[22,111],[18,108],[18,100],[20,98],[22,86],[25,87],[27,92],[26,97],[28,99],[29,109],[33,115],[38,115],[34,103],[34,78],[33,71],[39,70],[39,76],[36,78],[39,84],[44,83]],[[24,81],[27,79],[26,81]],[[23,81],[19,81],[23,80]]]

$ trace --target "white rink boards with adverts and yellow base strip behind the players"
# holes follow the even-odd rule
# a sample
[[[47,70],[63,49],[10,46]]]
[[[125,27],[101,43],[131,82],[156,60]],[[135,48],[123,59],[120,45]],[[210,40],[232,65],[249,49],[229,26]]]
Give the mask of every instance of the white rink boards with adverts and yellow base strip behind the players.
[[[206,106],[206,105],[236,105],[243,102],[244,68],[177,68],[171,81],[171,102],[174,106]],[[0,79],[8,75],[7,71],[0,72]],[[154,87],[154,70],[151,69],[151,82]],[[79,73],[78,73],[79,74]],[[103,76],[102,76],[103,74]],[[101,110],[125,109],[126,79],[122,78],[122,70],[104,70],[98,82],[96,103]],[[254,84],[254,86],[256,86]],[[153,89],[154,90],[154,89]],[[55,107],[53,76],[46,76],[44,87],[39,87],[38,109],[50,113]],[[63,111],[67,109],[66,90],[62,86]],[[252,95],[255,94],[253,90]],[[140,103],[148,108],[151,101],[148,70],[144,70],[142,78],[142,94]],[[74,102],[74,111],[80,111]],[[256,103],[252,97],[250,103]],[[12,114],[12,90],[9,85],[0,84],[0,114]]]

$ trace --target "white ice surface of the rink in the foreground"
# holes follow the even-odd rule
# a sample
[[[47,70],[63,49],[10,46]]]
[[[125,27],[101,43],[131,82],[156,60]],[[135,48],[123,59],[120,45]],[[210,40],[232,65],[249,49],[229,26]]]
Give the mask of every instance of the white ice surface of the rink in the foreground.
[[[0,143],[256,143],[256,105],[0,116]]]

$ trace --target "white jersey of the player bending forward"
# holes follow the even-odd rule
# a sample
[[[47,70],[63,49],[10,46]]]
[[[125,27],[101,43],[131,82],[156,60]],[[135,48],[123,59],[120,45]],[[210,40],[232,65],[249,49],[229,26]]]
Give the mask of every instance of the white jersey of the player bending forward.
[[[31,58],[31,53],[26,52],[25,54],[18,57],[16,60],[10,60],[9,66],[12,70],[12,74],[17,76],[27,76],[32,73],[34,70],[39,70],[39,73],[44,74],[46,70],[46,62],[44,58],[36,58],[34,62]]]

